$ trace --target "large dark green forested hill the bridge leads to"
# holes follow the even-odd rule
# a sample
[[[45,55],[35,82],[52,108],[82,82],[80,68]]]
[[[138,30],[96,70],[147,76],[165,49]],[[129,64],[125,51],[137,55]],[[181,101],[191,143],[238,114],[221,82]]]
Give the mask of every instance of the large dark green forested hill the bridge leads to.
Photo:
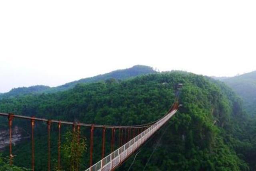
[[[184,84],[180,94],[183,107],[140,149],[131,170],[256,170],[256,122],[248,119],[240,98],[224,83],[192,73],[173,71],[127,81],[110,79],[78,84],[70,90],[52,94],[5,98],[0,100],[0,111],[94,124],[144,124],[168,111],[177,83]],[[1,121],[6,123],[6,120]],[[15,120],[13,124],[30,132],[26,122]],[[52,126],[52,167],[56,166],[56,127]],[[63,127],[62,132],[70,129]],[[37,123],[35,132],[36,168],[43,171],[47,163],[46,125]],[[89,128],[82,129],[82,135],[89,140]],[[101,137],[102,130],[96,129],[94,161],[100,159]],[[110,137],[110,131],[106,137]],[[16,145],[14,164],[29,168],[30,157],[24,156],[30,156],[30,149],[29,140]],[[106,150],[110,152],[110,138]],[[88,153],[87,150],[84,154],[81,170],[88,167]],[[3,155],[8,155],[8,150]],[[116,170],[128,170],[133,157]]]

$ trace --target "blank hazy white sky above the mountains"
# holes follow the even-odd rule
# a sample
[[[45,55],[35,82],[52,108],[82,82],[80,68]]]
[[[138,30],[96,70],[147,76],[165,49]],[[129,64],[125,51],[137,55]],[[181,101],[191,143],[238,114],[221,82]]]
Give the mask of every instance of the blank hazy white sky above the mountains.
[[[2,0],[0,92],[149,65],[256,70],[255,0]]]

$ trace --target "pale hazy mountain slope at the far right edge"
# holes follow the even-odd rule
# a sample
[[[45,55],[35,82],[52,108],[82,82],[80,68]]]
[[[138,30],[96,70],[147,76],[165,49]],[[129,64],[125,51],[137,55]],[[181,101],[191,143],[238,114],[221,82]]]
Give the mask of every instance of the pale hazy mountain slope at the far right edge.
[[[238,75],[235,77],[222,78],[244,100],[244,106],[248,114],[256,115],[256,71]]]

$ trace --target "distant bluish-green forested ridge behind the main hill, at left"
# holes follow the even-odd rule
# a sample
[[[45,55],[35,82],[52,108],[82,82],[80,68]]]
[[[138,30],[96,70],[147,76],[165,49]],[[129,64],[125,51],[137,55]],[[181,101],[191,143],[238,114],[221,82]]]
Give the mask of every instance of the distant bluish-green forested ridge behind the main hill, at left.
[[[148,67],[144,65],[135,65],[128,69],[120,69],[120,70],[112,71],[110,73],[97,75],[95,77],[90,77],[86,79],[80,79],[78,81],[73,81],[73,82],[66,83],[64,85],[56,86],[52,88],[50,88],[49,86],[42,86],[42,85],[14,88],[10,92],[2,93],[2,94],[0,93],[0,99],[7,98],[7,97],[8,98],[15,97],[15,96],[24,95],[24,94],[52,93],[52,92],[64,91],[64,90],[73,88],[78,83],[95,83],[99,81],[105,81],[107,79],[124,80],[124,79],[129,79],[132,77],[136,77],[139,75],[146,75],[150,73],[156,73],[156,71],[152,67]]]

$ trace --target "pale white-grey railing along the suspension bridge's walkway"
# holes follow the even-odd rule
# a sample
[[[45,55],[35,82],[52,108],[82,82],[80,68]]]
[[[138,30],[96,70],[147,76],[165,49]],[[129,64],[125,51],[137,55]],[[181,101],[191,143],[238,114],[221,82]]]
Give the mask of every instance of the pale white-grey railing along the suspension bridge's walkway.
[[[98,163],[92,165],[86,171],[111,171],[124,162],[134,151],[136,151],[148,138],[150,138],[159,128],[161,128],[177,110],[172,110],[164,118],[150,126],[148,129],[125,143]]]

